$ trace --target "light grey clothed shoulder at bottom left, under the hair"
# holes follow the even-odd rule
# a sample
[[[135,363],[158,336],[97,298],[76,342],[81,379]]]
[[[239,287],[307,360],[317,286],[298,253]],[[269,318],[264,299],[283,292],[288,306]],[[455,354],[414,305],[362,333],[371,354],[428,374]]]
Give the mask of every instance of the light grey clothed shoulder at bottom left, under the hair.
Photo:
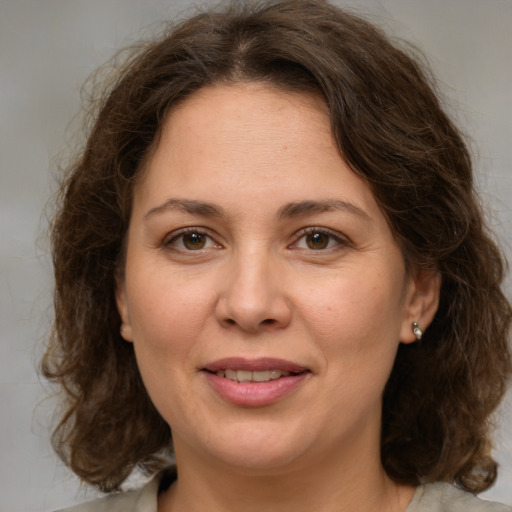
[[[162,475],[156,475],[141,489],[110,494],[58,512],[157,512],[158,489]]]

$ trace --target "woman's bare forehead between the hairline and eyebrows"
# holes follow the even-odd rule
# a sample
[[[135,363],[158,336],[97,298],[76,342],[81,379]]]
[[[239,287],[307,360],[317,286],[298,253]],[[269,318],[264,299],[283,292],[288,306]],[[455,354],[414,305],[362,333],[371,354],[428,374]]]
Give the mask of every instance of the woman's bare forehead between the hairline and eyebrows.
[[[175,106],[145,167],[136,199],[148,204],[182,195],[276,210],[351,196],[378,210],[337,149],[325,102],[262,84],[206,87]]]

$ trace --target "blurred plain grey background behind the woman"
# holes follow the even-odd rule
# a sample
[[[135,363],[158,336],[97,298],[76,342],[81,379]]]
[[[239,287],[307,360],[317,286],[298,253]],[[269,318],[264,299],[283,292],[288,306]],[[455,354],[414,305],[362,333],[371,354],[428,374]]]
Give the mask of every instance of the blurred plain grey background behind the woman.
[[[204,2],[208,3],[208,2]],[[472,139],[492,224],[512,240],[512,0],[353,0],[430,58]],[[90,498],[49,447],[54,403],[35,371],[51,321],[41,214],[72,147],[80,87],[117,48],[190,9],[184,0],[0,0],[0,511]],[[51,205],[51,202],[50,202]],[[511,290],[511,281],[508,289]],[[486,497],[512,505],[512,398],[499,416],[502,469]]]

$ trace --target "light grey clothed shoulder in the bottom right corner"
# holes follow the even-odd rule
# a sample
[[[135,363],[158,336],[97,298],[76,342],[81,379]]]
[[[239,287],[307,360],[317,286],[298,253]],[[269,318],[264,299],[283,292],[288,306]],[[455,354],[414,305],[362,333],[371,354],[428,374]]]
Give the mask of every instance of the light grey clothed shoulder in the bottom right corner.
[[[437,482],[418,487],[406,512],[512,512],[512,508]]]

